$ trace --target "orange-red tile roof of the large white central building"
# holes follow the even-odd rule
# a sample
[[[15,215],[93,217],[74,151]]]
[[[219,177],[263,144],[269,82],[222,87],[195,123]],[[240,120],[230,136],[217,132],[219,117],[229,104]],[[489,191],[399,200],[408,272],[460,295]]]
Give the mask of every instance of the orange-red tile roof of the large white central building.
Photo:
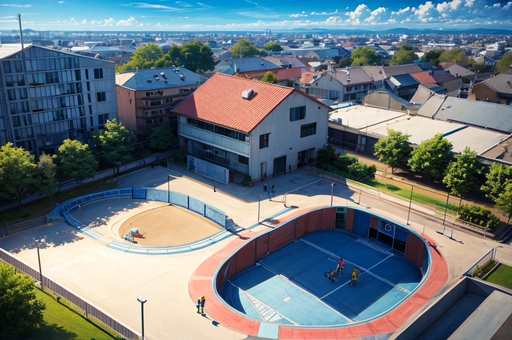
[[[250,89],[254,95],[249,100],[242,98],[242,92]],[[250,133],[294,92],[316,101],[293,88],[216,73],[173,112]],[[316,102],[331,110],[324,103]]]

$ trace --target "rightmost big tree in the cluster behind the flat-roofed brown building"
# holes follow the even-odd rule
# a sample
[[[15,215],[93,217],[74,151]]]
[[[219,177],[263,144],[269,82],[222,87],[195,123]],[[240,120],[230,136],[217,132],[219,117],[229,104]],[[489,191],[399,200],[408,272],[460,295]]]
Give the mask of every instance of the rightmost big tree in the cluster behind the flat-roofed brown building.
[[[186,42],[180,48],[179,62],[185,69],[192,72],[203,72],[214,69],[214,52],[209,45],[199,41]]]

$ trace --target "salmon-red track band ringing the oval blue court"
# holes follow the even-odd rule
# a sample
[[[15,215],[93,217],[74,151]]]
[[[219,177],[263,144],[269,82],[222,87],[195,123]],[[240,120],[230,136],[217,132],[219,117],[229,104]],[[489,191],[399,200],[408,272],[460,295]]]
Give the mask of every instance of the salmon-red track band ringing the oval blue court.
[[[281,224],[298,215],[318,207],[296,211],[282,220],[272,220],[272,224]],[[248,238],[257,235],[252,231],[240,233],[242,238],[230,242],[227,246],[206,259],[192,274],[188,283],[188,294],[194,303],[201,296],[206,296],[205,310],[210,317],[222,326],[243,334],[258,335],[260,322],[249,320],[242,314],[233,312],[219,301],[214,292],[212,280],[215,270],[228,258],[236,249],[247,242]],[[444,286],[448,280],[448,266],[443,254],[436,248],[435,242],[419,233],[428,243],[432,253],[432,264],[429,278],[423,285],[406,301],[401,303],[388,314],[365,324],[345,326],[339,328],[300,328],[279,326],[280,339],[352,339],[363,336],[374,336],[395,332],[404,325],[409,318],[429,302]]]

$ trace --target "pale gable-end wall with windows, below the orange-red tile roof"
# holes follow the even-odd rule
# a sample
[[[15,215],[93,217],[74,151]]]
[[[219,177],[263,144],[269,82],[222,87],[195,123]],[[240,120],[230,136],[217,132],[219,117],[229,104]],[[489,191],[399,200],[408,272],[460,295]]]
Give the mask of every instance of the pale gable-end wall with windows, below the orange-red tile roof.
[[[306,105],[306,118],[290,121],[290,108]],[[301,138],[301,125],[316,122],[316,134]],[[327,142],[327,108],[300,93],[293,93],[274,109],[250,134],[250,176],[261,177],[261,163],[267,175],[273,173],[274,158],[286,155],[286,172],[296,168],[298,152],[321,148]],[[268,147],[260,149],[260,135],[269,135]],[[316,157],[316,156],[315,156]]]

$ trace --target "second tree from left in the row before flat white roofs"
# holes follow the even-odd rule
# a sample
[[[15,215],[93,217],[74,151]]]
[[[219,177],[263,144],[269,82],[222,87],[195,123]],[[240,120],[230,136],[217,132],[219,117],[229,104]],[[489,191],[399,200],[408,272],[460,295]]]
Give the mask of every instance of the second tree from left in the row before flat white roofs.
[[[422,141],[411,152],[408,164],[414,172],[442,179],[448,164],[453,161],[452,149],[452,143],[438,133],[431,139]]]

